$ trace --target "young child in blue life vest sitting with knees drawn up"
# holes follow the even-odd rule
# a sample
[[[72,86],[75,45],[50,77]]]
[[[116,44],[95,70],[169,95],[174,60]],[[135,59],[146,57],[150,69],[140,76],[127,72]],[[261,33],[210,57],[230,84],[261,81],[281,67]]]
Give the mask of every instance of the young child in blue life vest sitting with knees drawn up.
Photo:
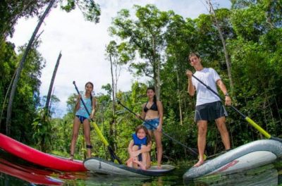
[[[130,159],[127,161],[127,166],[147,170],[151,166],[149,151],[151,151],[152,142],[151,136],[144,125],[137,126],[133,134],[133,140],[128,145],[128,154]]]

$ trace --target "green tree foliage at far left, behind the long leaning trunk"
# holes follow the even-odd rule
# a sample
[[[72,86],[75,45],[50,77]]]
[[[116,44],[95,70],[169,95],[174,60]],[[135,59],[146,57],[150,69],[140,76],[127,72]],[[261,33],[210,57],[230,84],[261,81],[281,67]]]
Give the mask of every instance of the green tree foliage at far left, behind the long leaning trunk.
[[[39,42],[33,44],[30,54],[27,56],[13,104],[11,136],[23,142],[32,142],[32,130],[30,128],[36,116],[36,108],[39,106],[39,86],[41,85],[39,78],[41,76],[41,70],[44,68],[44,58],[37,51],[38,46]],[[6,107],[8,104],[8,100],[6,100],[6,104],[3,104],[4,97],[24,49],[25,46],[20,46],[19,54],[17,55],[14,51],[13,44],[9,42],[1,43],[0,102],[1,110],[3,109],[1,131],[4,131],[5,128],[4,123],[6,123]],[[2,106],[4,107],[2,108]]]

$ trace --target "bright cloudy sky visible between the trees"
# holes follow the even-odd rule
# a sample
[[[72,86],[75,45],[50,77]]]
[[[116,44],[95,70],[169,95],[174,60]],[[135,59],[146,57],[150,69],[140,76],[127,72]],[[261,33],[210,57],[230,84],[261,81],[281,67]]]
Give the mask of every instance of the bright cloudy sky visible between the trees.
[[[42,70],[40,78],[40,96],[47,95],[51,76],[56,64],[56,59],[61,51],[62,57],[54,82],[54,94],[60,99],[56,105],[56,113],[53,117],[62,117],[66,113],[66,101],[68,97],[76,93],[73,81],[78,89],[84,90],[85,83],[93,82],[94,92],[106,92],[102,85],[111,83],[110,63],[106,60],[105,48],[114,38],[109,35],[108,28],[112,18],[122,8],[133,9],[137,4],[145,6],[154,4],[160,11],[172,10],[183,18],[197,18],[201,13],[208,13],[205,0],[97,0],[101,7],[99,23],[86,21],[77,8],[70,13],[62,11],[59,7],[51,9],[49,16],[45,18],[38,33],[42,44],[39,52],[46,60],[46,66]],[[212,1],[214,8],[230,8],[228,0]],[[134,16],[134,15],[133,15]],[[37,18],[21,18],[15,27],[12,38],[8,38],[16,47],[27,43],[37,25]],[[118,89],[130,90],[132,82],[145,82],[145,77],[134,77],[126,68],[121,71],[118,79]]]

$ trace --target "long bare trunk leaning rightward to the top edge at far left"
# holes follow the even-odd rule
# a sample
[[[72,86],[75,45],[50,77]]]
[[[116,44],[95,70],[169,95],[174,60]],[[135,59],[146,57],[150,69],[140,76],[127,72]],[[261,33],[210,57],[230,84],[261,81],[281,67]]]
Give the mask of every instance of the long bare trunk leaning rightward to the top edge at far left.
[[[27,44],[27,48],[25,49],[25,53],[23,54],[23,58],[20,60],[20,64],[19,64],[17,72],[16,72],[15,80],[13,81],[10,99],[9,99],[9,102],[8,102],[7,118],[6,118],[6,135],[10,135],[10,132],[11,132],[10,130],[11,130],[11,115],[12,115],[13,98],[15,97],[16,87],[18,85],[18,79],[20,77],[21,71],[23,70],[23,65],[25,63],[25,59],[27,58],[27,54],[30,51],[30,48],[32,46],[32,42],[35,40],[35,36],[37,35],[37,32],[38,32],[40,26],[42,25],[44,18],[49,13],[49,11],[50,11],[51,7],[53,6],[54,2],[55,2],[55,0],[50,1],[50,3],[47,6],[46,10],[44,11],[43,15],[39,19],[39,22],[38,22],[37,26],[35,27],[35,31],[32,33],[32,37],[30,38],[30,41]]]

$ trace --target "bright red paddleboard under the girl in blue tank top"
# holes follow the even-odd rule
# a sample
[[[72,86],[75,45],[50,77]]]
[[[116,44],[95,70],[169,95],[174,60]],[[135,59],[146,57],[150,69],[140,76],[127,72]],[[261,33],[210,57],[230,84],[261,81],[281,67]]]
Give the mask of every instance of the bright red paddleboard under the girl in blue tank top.
[[[0,133],[0,148],[8,151],[8,153],[24,159],[25,161],[30,161],[36,165],[43,166],[45,168],[51,168],[58,171],[87,171],[83,166],[82,161],[71,161],[68,159],[63,159],[58,156],[52,156],[46,154],[32,147],[28,147],[11,137],[3,135]]]

